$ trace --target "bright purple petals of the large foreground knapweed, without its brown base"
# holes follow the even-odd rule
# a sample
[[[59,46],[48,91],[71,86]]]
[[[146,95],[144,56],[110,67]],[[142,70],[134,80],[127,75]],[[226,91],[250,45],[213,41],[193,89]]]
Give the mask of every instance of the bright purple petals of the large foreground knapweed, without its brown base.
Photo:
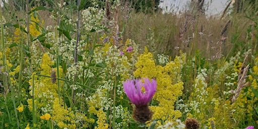
[[[152,96],[156,92],[156,80],[151,79],[151,82],[148,78],[143,80],[144,83],[142,79],[127,79],[123,83],[124,93],[136,106],[148,105],[149,101],[152,99]],[[142,87],[144,87],[145,92],[142,91]]]

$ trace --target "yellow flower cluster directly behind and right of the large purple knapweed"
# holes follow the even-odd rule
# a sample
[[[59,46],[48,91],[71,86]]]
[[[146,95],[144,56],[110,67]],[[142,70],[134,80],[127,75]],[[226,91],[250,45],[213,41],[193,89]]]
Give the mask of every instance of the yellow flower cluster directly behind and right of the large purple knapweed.
[[[158,102],[155,106],[150,106],[153,111],[153,119],[162,121],[174,121],[181,117],[179,110],[174,110],[174,103],[179,96],[182,95],[183,82],[178,77],[180,73],[180,65],[178,57],[173,62],[169,62],[166,66],[156,66],[153,56],[150,52],[145,52],[138,57],[135,66],[138,68],[134,72],[137,78],[154,78],[157,81],[157,91],[153,99]]]

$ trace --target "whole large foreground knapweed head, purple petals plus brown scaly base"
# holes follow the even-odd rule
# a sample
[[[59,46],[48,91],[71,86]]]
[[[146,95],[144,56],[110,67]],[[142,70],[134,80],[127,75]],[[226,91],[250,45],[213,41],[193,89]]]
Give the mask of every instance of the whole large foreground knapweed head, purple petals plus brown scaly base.
[[[144,83],[143,83],[144,81]],[[143,80],[126,80],[123,83],[124,93],[135,104],[133,111],[133,118],[141,123],[145,123],[152,118],[152,112],[148,107],[149,101],[156,92],[157,83],[152,79],[151,82],[148,78]],[[144,88],[144,90],[142,90]]]

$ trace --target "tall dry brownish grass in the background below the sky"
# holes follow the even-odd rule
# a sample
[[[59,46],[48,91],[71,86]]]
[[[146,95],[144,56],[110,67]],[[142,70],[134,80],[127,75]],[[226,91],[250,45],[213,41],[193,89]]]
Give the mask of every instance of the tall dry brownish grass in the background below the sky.
[[[243,14],[224,16],[222,20],[219,16],[131,13],[124,39],[131,38],[141,48],[148,46],[151,52],[166,53],[172,57],[178,55],[179,50],[186,53],[199,50],[209,59],[218,52],[226,56],[236,40],[246,42],[245,31],[251,22],[243,18]],[[221,36],[229,20],[231,22]],[[121,17],[120,21],[123,21]]]

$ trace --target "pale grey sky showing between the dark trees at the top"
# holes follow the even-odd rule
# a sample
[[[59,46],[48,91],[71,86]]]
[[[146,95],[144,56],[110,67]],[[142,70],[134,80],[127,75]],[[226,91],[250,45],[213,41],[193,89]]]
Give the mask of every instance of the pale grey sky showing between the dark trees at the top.
[[[179,10],[182,10],[185,8],[185,5],[187,2],[190,2],[190,0],[163,0],[164,2],[160,4],[161,8],[166,8],[169,10],[171,7],[172,9],[176,10],[177,7],[179,7]],[[197,0],[195,0],[197,1]],[[207,14],[209,15],[215,15],[218,13],[223,12],[223,10],[226,8],[227,4],[229,3],[229,0],[205,0],[205,3],[209,3],[209,8]],[[206,6],[207,8],[207,6]]]

